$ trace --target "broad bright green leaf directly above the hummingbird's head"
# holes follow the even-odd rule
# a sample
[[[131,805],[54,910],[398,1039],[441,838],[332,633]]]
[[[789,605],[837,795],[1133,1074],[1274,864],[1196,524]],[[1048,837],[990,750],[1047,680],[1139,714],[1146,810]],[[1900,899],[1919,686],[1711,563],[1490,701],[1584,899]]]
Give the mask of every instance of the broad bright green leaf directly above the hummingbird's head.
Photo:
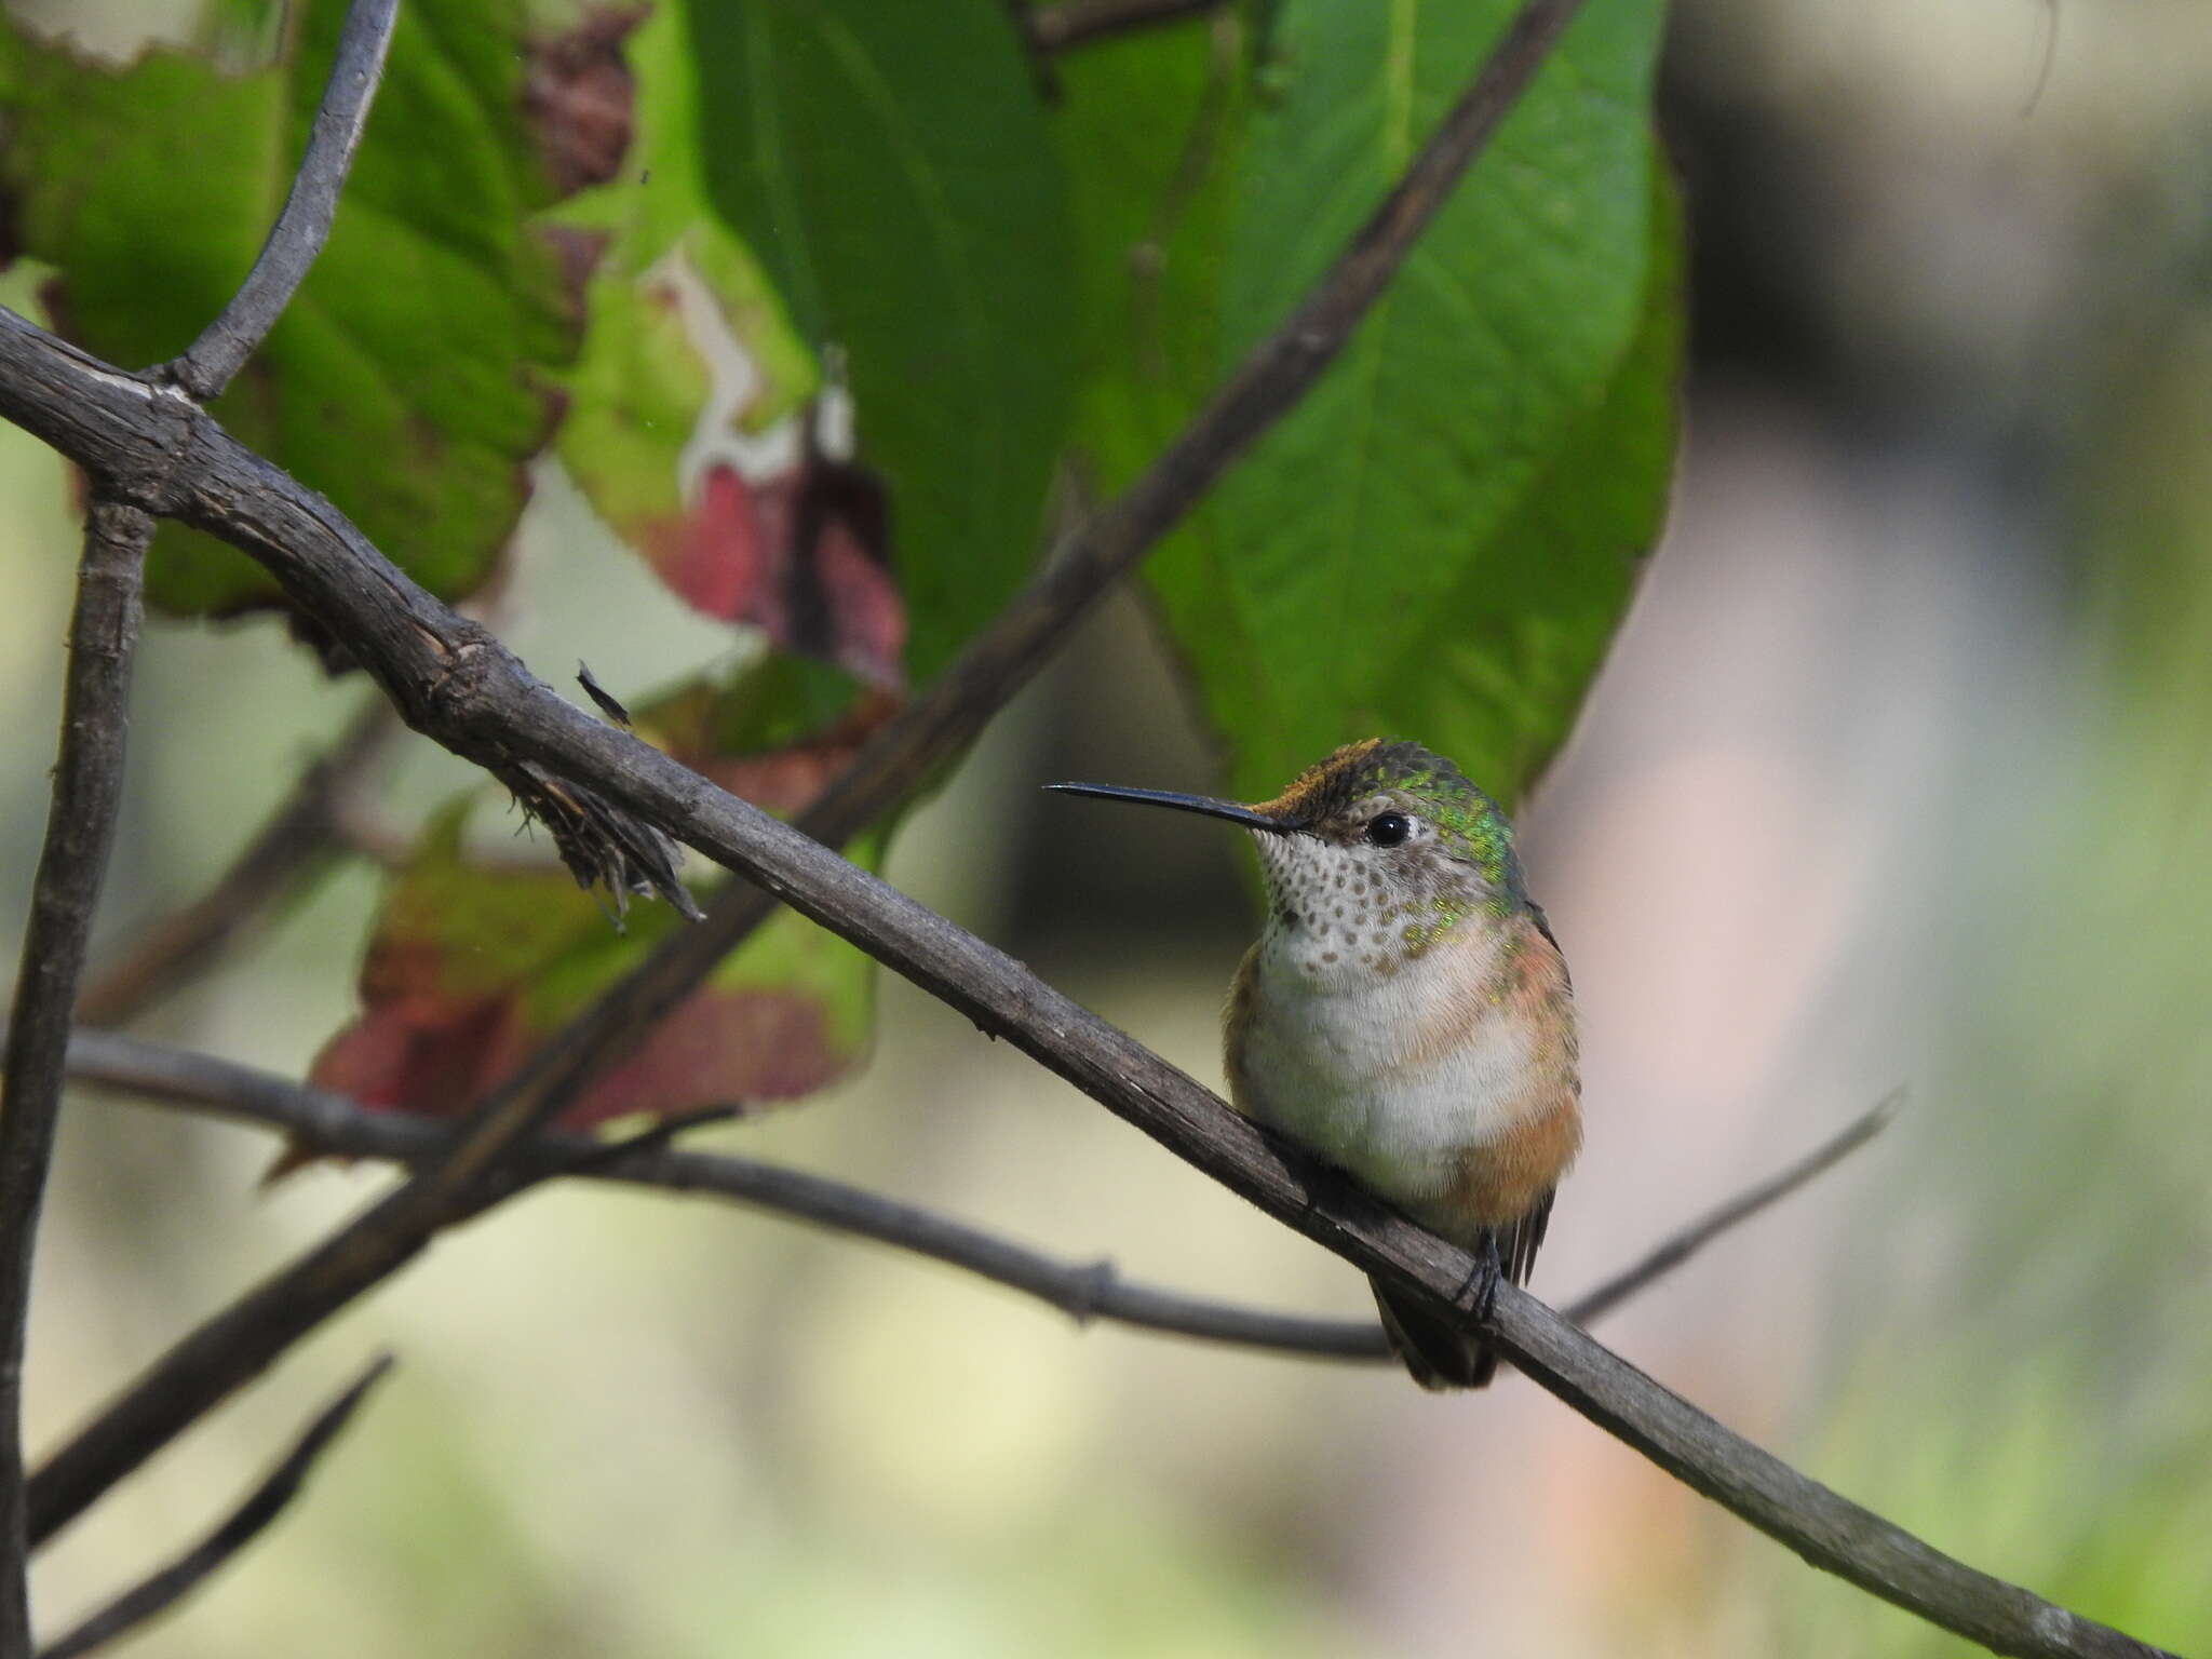
[[[1199,80],[1201,31],[1068,64],[1108,484],[1310,290],[1511,11],[1283,0],[1245,95]],[[1573,721],[1672,449],[1657,38],[1652,0],[1586,7],[1332,372],[1152,557],[1241,794],[1369,734],[1513,794]],[[1115,155],[1130,106],[1164,119]]]

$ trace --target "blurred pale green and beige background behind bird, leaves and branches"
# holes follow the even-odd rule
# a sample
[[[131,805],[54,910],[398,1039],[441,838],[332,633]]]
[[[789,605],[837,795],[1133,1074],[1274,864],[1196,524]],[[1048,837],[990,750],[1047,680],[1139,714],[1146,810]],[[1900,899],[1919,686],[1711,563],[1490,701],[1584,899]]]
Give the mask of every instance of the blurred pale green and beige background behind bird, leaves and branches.
[[[22,15],[100,22],[97,9]],[[108,9],[113,38],[195,7]],[[1902,1119],[1601,1336],[1960,1557],[2212,1650],[2212,27],[2199,0],[1688,0],[1672,526],[1522,812],[1575,967],[1568,1296],[1896,1086]],[[9,276],[29,303],[35,274]],[[0,918],[44,816],[73,533],[0,434]],[[540,480],[502,630],[630,690],[726,650]],[[159,628],[106,942],[192,896],[363,695]],[[1416,734],[1418,737],[1418,734]],[[1203,1079],[1228,834],[1055,803],[1210,763],[1130,602],[889,874]],[[411,743],[405,821],[465,781]],[[155,1022],[299,1071],[354,869]],[[896,980],[872,1068],[701,1137],[1276,1307],[1365,1285]],[[358,1208],[270,1144],[73,1097],[33,1444]],[[75,1526],[49,1628],[195,1535],[367,1354],[305,1502],[135,1655],[1949,1655],[1522,1380],[1110,1327],[699,1201],[553,1190],[445,1239]]]

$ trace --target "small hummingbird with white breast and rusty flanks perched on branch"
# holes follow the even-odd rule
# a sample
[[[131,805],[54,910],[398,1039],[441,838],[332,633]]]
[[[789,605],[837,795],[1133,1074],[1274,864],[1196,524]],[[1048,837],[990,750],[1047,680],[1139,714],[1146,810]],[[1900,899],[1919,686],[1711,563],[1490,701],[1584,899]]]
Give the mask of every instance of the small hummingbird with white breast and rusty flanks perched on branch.
[[[1053,783],[1241,823],[1267,925],[1223,1011],[1230,1099],[1347,1170],[1498,1279],[1528,1279],[1582,1146],[1566,960],[1522,885],[1498,803],[1418,743],[1336,750],[1261,805]],[[1427,1389],[1480,1389],[1498,1356],[1376,1281]]]

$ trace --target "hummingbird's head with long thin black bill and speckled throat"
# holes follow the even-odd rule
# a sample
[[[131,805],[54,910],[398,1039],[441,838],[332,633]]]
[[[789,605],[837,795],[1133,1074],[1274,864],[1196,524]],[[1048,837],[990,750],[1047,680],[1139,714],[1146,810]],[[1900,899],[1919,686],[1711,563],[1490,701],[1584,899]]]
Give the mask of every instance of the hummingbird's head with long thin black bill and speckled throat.
[[[1267,874],[1270,931],[1298,933],[1318,947],[1316,960],[1347,969],[1389,971],[1473,916],[1504,918],[1528,902],[1504,812],[1420,743],[1349,743],[1259,805],[1048,787],[1241,823]]]

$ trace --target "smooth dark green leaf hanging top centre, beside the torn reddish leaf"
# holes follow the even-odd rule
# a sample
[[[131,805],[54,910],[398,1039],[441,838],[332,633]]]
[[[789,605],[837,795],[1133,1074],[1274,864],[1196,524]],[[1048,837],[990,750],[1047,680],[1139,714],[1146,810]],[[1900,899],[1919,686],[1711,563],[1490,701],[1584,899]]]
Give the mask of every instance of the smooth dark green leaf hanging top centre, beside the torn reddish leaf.
[[[847,354],[909,668],[1031,568],[1066,431],[1066,199],[998,0],[695,4],[708,188],[801,332]]]

